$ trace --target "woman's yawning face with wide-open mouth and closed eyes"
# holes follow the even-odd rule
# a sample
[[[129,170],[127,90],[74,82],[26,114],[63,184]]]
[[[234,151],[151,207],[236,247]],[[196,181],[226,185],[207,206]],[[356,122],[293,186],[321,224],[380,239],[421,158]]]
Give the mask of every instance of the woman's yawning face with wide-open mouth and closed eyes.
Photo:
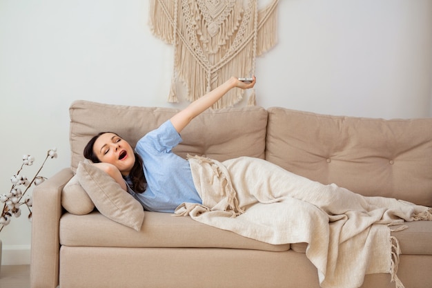
[[[110,163],[119,169],[122,175],[129,175],[135,164],[135,154],[126,140],[114,133],[100,135],[93,145],[93,153],[101,162]]]

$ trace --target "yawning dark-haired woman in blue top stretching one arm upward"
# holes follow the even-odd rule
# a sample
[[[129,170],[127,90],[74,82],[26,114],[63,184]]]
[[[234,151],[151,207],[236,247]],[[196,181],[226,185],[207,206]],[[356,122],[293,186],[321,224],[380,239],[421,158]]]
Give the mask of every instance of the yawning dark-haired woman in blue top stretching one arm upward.
[[[145,209],[173,213],[183,202],[201,204],[187,160],[172,153],[181,142],[179,133],[189,122],[221,99],[232,88],[253,88],[231,77],[195,100],[132,147],[115,133],[99,133],[84,148],[84,157],[95,163],[132,194]]]

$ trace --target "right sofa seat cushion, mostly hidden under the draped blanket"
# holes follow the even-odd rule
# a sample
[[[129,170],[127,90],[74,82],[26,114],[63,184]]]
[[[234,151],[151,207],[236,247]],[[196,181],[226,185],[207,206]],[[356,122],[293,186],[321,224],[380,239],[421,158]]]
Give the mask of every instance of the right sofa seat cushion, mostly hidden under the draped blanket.
[[[432,221],[405,222],[408,229],[391,232],[400,244],[400,250],[404,255],[432,255]],[[397,229],[400,226],[391,227]],[[306,253],[306,243],[291,244],[291,249],[296,252]]]

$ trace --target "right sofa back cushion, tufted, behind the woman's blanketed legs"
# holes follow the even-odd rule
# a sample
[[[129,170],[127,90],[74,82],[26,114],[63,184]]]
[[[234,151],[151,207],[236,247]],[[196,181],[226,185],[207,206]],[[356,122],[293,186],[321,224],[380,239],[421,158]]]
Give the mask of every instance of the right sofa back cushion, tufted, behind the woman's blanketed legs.
[[[266,160],[311,180],[432,207],[432,118],[268,109]]]

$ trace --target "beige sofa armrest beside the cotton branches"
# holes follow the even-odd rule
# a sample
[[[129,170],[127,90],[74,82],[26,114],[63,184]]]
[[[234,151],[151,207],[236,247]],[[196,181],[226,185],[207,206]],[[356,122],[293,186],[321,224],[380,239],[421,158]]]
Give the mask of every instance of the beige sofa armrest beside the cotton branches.
[[[61,191],[73,176],[67,168],[50,177],[33,191],[30,287],[59,285],[59,220]]]

